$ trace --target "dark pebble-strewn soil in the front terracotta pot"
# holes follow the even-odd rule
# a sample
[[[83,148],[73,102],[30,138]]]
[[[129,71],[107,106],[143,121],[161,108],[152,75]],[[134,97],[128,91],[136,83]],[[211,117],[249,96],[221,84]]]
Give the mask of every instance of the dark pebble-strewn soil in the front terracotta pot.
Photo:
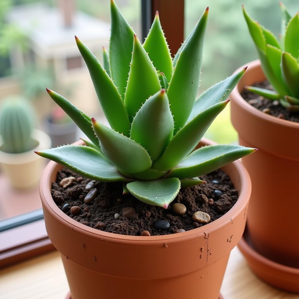
[[[60,181],[70,176],[77,180],[68,187],[61,187]],[[52,183],[51,193],[54,202],[66,215],[91,228],[132,236],[140,236],[142,231],[149,231],[151,235],[155,236],[173,234],[178,229],[189,231],[198,228],[202,224],[192,220],[193,213],[196,211],[208,213],[210,222],[212,222],[225,214],[236,203],[238,192],[234,189],[234,185],[226,173],[216,170],[201,176],[201,179],[207,183],[180,190],[176,199],[167,209],[147,205],[131,194],[123,195],[123,186],[120,182],[94,182],[92,188],[96,188],[96,196],[87,204],[84,202],[84,198],[89,191],[85,190],[85,186],[91,180],[82,178],[67,169],[58,172],[57,181]],[[221,192],[216,191],[214,194],[215,190]],[[185,214],[178,215],[173,212],[172,205],[176,202],[186,206]],[[118,215],[116,216],[118,219],[115,219],[116,213],[120,214],[119,218]],[[154,223],[158,220],[168,221],[170,228],[164,231],[156,229]]]

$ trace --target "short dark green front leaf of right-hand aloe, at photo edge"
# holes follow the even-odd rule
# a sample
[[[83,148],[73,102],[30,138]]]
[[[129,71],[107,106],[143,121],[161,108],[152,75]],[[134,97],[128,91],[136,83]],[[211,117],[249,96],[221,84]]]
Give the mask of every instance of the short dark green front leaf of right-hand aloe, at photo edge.
[[[299,96],[299,65],[297,60],[287,52],[281,56],[281,71],[285,84],[289,87],[292,96]]]

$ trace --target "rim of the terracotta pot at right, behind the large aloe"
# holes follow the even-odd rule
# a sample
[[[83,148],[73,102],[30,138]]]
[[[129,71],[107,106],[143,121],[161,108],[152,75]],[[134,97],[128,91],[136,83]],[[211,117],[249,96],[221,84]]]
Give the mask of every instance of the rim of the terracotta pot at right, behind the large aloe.
[[[257,66],[260,65],[260,60],[253,60],[250,61],[244,65],[242,65],[241,67],[239,67],[234,74],[242,71],[242,69],[244,67],[248,67],[248,68],[256,68]],[[281,118],[277,118],[273,115],[269,115],[267,113],[264,113],[262,111],[260,111],[259,109],[255,108],[254,106],[250,105],[247,101],[244,100],[244,98],[241,96],[240,92],[239,92],[239,83],[237,83],[237,86],[233,89],[233,91],[231,92],[231,97],[234,97],[234,100],[238,102],[238,104],[240,106],[243,106],[243,109],[248,110],[250,113],[252,113],[254,116],[256,116],[257,118],[262,118],[263,120],[269,121],[271,123],[275,123],[277,125],[280,126],[285,126],[288,128],[295,128],[295,129],[299,129],[299,123],[296,123],[294,121],[291,120],[286,120],[286,119],[281,119]]]

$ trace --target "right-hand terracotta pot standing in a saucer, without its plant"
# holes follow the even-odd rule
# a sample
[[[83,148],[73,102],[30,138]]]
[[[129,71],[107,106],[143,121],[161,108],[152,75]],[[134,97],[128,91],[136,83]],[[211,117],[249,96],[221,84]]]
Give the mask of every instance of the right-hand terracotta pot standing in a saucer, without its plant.
[[[255,250],[274,262],[298,268],[299,123],[263,113],[242,98],[245,85],[263,80],[260,62],[250,62],[231,93],[231,121],[239,143],[259,149],[254,158],[242,158],[252,181],[247,227]]]

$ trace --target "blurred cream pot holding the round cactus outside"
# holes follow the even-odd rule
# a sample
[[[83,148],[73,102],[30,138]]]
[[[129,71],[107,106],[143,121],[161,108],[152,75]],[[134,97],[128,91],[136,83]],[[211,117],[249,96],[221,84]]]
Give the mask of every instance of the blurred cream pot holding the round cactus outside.
[[[12,187],[16,189],[30,189],[38,186],[45,160],[33,151],[51,147],[50,137],[43,131],[33,130],[32,138],[37,141],[37,146],[19,154],[10,154],[0,150],[0,166],[10,179]],[[1,141],[0,141],[1,148]]]

